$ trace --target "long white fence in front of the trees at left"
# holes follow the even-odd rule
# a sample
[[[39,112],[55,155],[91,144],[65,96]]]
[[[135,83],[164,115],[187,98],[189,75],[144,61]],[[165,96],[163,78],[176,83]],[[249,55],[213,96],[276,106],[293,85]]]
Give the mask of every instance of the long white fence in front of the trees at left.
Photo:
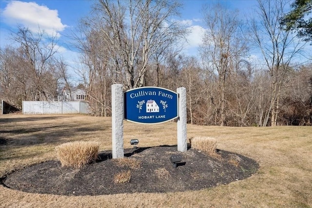
[[[90,113],[84,101],[23,101],[23,114]]]

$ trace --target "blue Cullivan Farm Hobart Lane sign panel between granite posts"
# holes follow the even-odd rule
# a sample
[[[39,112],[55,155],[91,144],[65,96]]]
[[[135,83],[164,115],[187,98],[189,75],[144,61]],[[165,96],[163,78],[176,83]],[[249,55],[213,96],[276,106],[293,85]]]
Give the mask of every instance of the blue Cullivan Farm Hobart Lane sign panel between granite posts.
[[[159,87],[140,87],[124,93],[124,119],[156,124],[178,117],[178,94]]]

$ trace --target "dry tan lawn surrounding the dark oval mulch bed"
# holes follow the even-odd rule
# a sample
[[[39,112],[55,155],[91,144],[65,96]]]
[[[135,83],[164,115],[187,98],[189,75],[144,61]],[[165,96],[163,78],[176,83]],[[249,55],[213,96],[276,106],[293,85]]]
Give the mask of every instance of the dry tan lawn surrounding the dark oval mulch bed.
[[[0,186],[0,207],[312,207],[311,127],[188,125],[187,128],[188,137],[214,137],[218,149],[253,158],[260,165],[259,171],[248,179],[213,189],[176,193],[71,197],[31,194]],[[124,147],[131,148],[131,138],[139,139],[139,147],[175,145],[175,132],[173,122],[144,126],[124,122]],[[55,147],[66,142],[92,138],[99,143],[100,150],[110,150],[111,118],[0,115],[0,138],[5,140],[5,144],[0,144],[0,177],[3,177],[22,167],[57,159]],[[231,159],[239,162],[237,158]]]

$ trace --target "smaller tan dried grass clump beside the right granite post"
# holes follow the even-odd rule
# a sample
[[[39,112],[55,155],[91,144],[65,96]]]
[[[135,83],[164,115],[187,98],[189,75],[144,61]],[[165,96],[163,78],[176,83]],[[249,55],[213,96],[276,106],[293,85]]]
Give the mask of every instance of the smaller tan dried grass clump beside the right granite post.
[[[203,151],[207,154],[214,155],[216,146],[217,146],[217,140],[212,137],[200,137],[196,136],[190,139],[192,148]]]

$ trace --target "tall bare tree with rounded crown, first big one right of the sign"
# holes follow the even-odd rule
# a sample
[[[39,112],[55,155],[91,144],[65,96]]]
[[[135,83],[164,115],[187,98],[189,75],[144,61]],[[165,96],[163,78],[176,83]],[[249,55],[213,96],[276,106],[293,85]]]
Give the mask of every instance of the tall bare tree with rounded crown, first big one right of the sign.
[[[205,68],[217,85],[215,103],[215,124],[225,125],[226,119],[226,79],[230,76],[235,62],[247,52],[247,45],[240,33],[241,21],[238,11],[230,11],[216,4],[204,8],[207,26],[201,46],[201,56]]]

